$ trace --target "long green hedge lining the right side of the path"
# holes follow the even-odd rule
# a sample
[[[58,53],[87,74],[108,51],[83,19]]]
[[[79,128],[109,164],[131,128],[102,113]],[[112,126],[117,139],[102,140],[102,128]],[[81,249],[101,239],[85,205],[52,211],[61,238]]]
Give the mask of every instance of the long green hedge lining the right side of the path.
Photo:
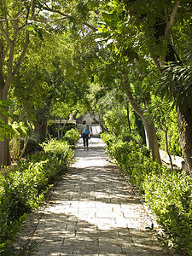
[[[164,231],[164,241],[184,255],[192,255],[192,185],[185,172],[172,172],[153,160],[137,140],[101,135],[108,153],[143,194]],[[162,238],[162,237],[161,237]]]

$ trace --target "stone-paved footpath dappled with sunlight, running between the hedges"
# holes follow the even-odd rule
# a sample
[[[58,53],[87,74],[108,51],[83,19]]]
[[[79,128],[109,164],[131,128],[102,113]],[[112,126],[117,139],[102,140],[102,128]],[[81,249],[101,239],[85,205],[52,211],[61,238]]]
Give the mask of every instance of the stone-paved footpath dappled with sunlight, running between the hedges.
[[[153,218],[104,146],[91,138],[84,151],[79,140],[76,162],[21,234],[37,243],[32,255],[170,255],[146,230]]]

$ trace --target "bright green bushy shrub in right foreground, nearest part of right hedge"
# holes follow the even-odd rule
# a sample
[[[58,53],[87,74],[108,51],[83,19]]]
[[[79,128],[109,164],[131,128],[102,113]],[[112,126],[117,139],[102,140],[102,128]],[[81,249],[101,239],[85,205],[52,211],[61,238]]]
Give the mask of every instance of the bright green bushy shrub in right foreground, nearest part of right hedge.
[[[167,244],[192,255],[192,185],[185,172],[151,172],[144,182],[145,200],[166,234]]]

